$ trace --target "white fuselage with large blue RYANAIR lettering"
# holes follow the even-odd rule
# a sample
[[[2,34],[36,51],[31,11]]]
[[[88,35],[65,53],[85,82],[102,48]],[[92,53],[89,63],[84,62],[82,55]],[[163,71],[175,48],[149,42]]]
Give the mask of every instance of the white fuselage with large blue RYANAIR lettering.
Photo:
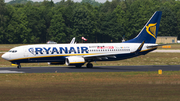
[[[10,49],[2,58],[12,63],[23,62],[58,62],[65,61],[66,57],[80,56],[93,58],[102,56],[117,56],[121,54],[131,55],[141,43],[86,43],[86,44],[37,44],[25,45]],[[144,44],[141,51],[151,50],[147,46],[156,44]],[[130,56],[131,57],[131,56]],[[126,57],[123,57],[126,58]],[[113,60],[123,59],[121,57]],[[110,59],[110,58],[109,58]],[[103,59],[99,59],[103,61]],[[107,61],[108,59],[105,59]],[[110,59],[112,60],[112,59]],[[98,61],[98,59],[96,59]]]

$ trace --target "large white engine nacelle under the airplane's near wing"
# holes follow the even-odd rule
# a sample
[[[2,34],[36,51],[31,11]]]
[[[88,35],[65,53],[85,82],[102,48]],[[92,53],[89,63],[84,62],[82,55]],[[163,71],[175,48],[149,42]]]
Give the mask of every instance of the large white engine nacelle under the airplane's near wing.
[[[84,65],[85,59],[83,57],[73,56],[73,57],[67,57],[66,65]]]

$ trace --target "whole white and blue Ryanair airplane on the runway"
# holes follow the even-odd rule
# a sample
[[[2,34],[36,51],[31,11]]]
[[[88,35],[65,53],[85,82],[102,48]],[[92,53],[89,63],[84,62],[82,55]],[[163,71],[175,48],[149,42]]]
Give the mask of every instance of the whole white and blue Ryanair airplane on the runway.
[[[122,43],[35,44],[12,48],[2,58],[16,64],[49,62],[93,68],[93,61],[123,60],[145,55],[159,46],[156,43],[162,12],[156,11],[139,34]],[[73,43],[73,42],[72,42]]]

